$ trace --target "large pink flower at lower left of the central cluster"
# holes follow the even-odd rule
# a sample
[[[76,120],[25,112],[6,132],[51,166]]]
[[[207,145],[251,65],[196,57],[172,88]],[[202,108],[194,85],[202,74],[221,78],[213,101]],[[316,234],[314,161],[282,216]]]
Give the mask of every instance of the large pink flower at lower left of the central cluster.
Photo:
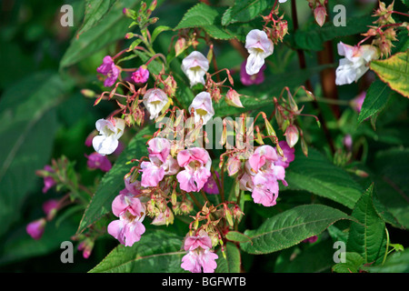
[[[108,234],[114,236],[122,245],[133,246],[145,233],[145,226],[142,224],[145,206],[139,198],[120,194],[112,203],[112,212],[119,219],[108,225]]]

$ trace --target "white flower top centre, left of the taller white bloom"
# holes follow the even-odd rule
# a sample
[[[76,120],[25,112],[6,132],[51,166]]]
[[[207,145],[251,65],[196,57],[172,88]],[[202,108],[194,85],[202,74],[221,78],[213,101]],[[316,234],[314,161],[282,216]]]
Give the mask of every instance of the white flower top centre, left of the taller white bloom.
[[[205,74],[209,69],[209,61],[200,52],[194,51],[182,61],[182,71],[189,78],[190,86],[202,83],[205,85]]]

